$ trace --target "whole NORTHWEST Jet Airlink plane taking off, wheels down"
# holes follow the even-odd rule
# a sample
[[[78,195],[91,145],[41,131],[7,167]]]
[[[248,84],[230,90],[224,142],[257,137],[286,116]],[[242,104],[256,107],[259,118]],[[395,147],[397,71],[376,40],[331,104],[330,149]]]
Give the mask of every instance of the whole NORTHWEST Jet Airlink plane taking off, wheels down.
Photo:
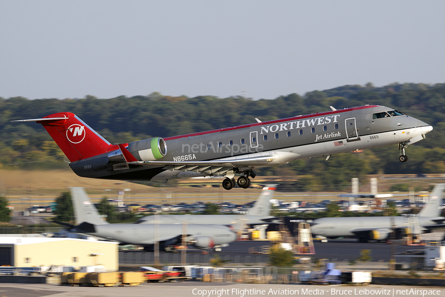
[[[114,180],[165,180],[225,176],[223,188],[249,188],[253,169],[425,138],[433,127],[392,108],[365,105],[285,119],[112,145],[70,112],[18,120],[42,124],[79,176]]]

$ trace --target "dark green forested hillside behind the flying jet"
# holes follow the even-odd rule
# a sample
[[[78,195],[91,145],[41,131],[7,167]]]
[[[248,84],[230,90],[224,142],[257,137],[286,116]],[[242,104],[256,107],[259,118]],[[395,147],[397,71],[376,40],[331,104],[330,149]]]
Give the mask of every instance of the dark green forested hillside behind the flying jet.
[[[0,98],[0,166],[3,168],[66,166],[64,155],[36,123],[11,123],[70,111],[113,144],[149,137],[168,137],[255,122],[328,111],[364,104],[390,106],[434,127],[423,140],[406,150],[408,161],[399,161],[397,145],[362,153],[298,160],[288,165],[258,170],[263,175],[307,175],[307,184],[349,183],[363,174],[445,173],[445,84],[392,84],[381,88],[343,86],[290,94],[276,99],[243,97],[170,97],[159,93],[132,98],[36,99]]]

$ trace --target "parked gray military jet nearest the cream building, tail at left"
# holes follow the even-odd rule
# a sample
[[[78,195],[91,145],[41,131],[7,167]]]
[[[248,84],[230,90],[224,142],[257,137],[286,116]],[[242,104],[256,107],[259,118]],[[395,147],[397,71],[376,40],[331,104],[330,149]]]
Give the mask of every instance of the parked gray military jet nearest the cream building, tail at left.
[[[76,233],[84,233],[123,244],[143,246],[145,250],[153,250],[155,242],[159,242],[160,249],[170,245],[180,244],[183,233],[182,224],[159,224],[158,230],[146,224],[109,224],[103,221],[91,203],[84,188],[71,188],[76,226],[72,229]],[[222,225],[186,225],[188,244],[200,249],[219,251],[236,240],[236,234],[230,227]]]

